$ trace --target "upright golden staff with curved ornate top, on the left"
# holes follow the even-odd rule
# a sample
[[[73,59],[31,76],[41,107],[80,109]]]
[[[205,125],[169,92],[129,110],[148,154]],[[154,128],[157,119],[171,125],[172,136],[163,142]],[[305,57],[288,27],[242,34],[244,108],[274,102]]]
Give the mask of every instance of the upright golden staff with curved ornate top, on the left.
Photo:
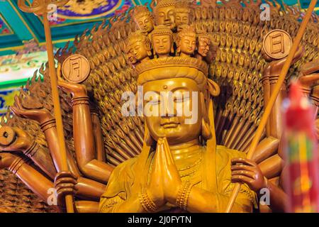
[[[60,159],[62,171],[68,171],[67,167],[67,149],[65,148],[65,134],[63,132],[62,114],[59,99],[59,91],[57,89],[57,73],[55,72],[55,59],[53,55],[52,37],[50,30],[50,23],[47,19],[47,13],[50,11],[48,6],[54,4],[55,6],[64,6],[69,0],[34,0],[31,6],[26,5],[26,0],[18,0],[18,7],[26,13],[35,13],[43,16],[43,24],[45,28],[45,40],[47,46],[47,59],[49,62],[49,72],[51,79],[52,99],[55,109],[55,121],[57,123],[57,140],[61,148]],[[73,197],[72,195],[65,196],[65,204],[67,205],[67,212],[74,213]]]

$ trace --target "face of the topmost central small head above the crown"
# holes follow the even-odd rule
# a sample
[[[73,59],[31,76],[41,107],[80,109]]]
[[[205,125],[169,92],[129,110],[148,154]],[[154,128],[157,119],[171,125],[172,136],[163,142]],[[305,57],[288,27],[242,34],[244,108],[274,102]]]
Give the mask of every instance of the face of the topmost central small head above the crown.
[[[156,10],[157,25],[164,25],[170,29],[175,28],[175,6],[160,7]]]

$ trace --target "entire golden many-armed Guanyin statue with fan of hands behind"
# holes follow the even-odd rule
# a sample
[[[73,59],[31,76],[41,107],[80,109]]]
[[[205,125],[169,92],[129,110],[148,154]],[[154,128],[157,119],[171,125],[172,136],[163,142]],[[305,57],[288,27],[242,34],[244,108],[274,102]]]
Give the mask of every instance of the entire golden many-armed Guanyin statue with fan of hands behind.
[[[19,196],[16,207],[18,195],[4,186],[0,211],[42,211],[28,205],[39,198],[48,204],[45,211],[65,211],[71,194],[77,212],[223,212],[235,182],[242,184],[233,212],[284,211],[281,102],[298,77],[318,109],[318,18],[308,25],[248,160],[286,61],[264,51],[264,36],[281,29],[295,37],[300,17],[276,4],[270,21],[260,21],[260,4],[152,2],[152,12],[136,6],[60,49],[55,58],[69,171],[60,168],[43,65],[0,128],[0,184],[16,175],[32,191],[23,191],[30,201]],[[91,70],[81,83],[62,77],[62,63],[74,54],[86,57]],[[76,64],[79,74],[87,70]],[[269,190],[269,205],[260,203],[262,189]]]

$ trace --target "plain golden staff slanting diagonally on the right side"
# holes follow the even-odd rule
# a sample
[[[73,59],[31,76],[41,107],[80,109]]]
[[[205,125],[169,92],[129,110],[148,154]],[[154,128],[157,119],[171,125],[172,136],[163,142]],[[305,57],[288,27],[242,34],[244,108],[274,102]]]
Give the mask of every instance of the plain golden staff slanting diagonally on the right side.
[[[315,9],[315,4],[317,4],[317,0],[311,0],[309,8],[308,8],[307,13],[306,13],[306,16],[303,18],[303,21],[301,22],[301,26],[298,30],[297,35],[296,35],[296,38],[293,41],[293,45],[292,45],[292,48],[289,52],[287,60],[281,69],[278,82],[276,83],[276,86],[274,87],[274,92],[272,93],[272,95],[269,98],[269,102],[266,106],[266,109],[264,109],[264,114],[262,115],[262,119],[260,120],[256,134],[254,135],[252,143],[250,144],[250,148],[249,148],[248,153],[247,153],[247,159],[252,159],[252,156],[254,155],[254,150],[256,149],[260,138],[262,137],[262,132],[264,131],[264,127],[266,126],[266,123],[267,123],[269,115],[272,111],[272,107],[274,106],[274,103],[277,99],[277,96],[279,94],[281,86],[284,83],[284,79],[285,79],[286,74],[289,70],[290,64],[293,60],[293,55],[295,55],[295,52],[298,48],[298,45],[300,44],[301,39],[303,38],[303,33],[305,33],[305,31],[306,31],[306,26],[309,22],[309,19],[311,17],[311,13],[313,12],[313,9]],[[236,199],[239,191],[240,191],[240,183],[236,183],[235,187],[233,189],[233,193],[230,196],[230,199],[228,201],[228,205],[227,205],[227,208],[225,211],[226,213],[229,213],[231,211],[231,209],[233,208],[233,204],[235,203],[235,199]]]

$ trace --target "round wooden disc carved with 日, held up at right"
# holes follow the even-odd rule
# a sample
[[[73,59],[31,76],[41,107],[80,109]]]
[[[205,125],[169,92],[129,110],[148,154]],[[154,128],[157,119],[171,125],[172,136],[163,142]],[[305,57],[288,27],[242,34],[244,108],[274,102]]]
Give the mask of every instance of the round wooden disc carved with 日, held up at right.
[[[289,33],[281,29],[269,31],[264,37],[264,52],[273,59],[287,57],[292,46],[292,39]]]

